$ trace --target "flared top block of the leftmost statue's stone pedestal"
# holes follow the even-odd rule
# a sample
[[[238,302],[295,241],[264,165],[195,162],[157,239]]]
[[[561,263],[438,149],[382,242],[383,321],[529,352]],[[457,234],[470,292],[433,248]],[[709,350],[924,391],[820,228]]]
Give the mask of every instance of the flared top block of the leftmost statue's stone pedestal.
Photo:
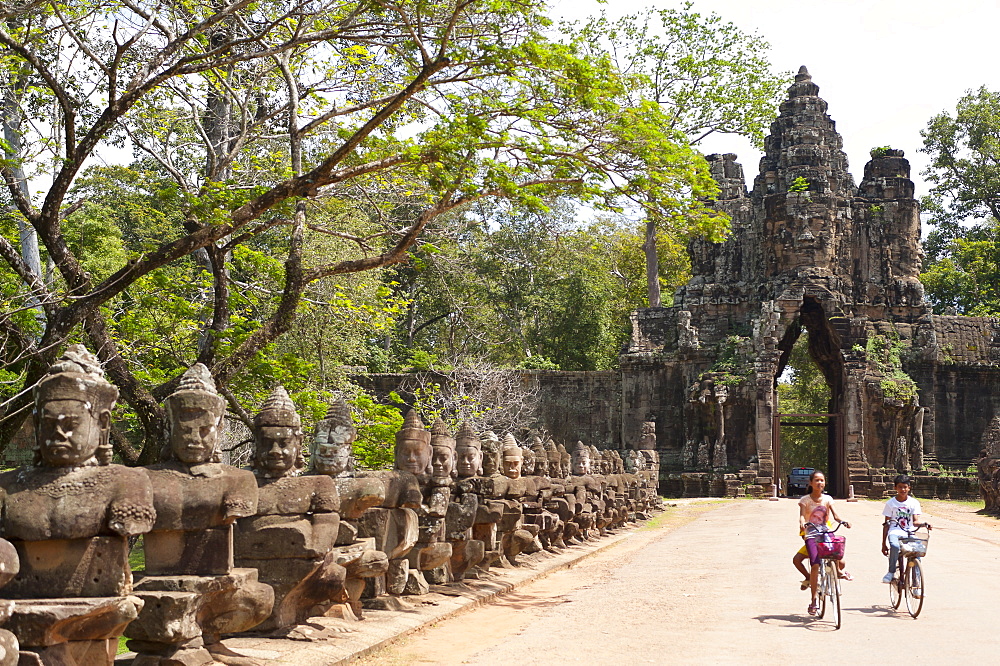
[[[135,596],[17,601],[6,628],[22,648],[117,639],[142,607]]]

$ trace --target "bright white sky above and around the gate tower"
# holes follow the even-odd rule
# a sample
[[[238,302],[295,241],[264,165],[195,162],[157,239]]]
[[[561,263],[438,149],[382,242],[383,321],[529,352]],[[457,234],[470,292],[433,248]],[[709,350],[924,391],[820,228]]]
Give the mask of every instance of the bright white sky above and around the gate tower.
[[[654,0],[550,0],[553,18],[581,20],[602,8],[618,17],[646,7],[680,8]],[[996,0],[694,0],[693,10],[716,13],[771,44],[776,71],[805,65],[844,137],[850,171],[861,181],[868,151],[900,148],[912,165],[917,197],[927,156],[920,130],[934,115],[954,112],[958,99],[980,86],[1000,89]],[[714,135],[706,153],[732,152],[747,182],[760,153],[741,137]]]

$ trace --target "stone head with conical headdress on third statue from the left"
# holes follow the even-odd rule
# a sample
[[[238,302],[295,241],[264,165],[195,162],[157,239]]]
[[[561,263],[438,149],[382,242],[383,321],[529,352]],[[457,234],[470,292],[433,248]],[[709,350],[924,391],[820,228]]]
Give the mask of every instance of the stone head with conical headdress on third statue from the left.
[[[276,386],[253,419],[253,469],[258,476],[294,476],[302,469],[302,419],[284,386]]]

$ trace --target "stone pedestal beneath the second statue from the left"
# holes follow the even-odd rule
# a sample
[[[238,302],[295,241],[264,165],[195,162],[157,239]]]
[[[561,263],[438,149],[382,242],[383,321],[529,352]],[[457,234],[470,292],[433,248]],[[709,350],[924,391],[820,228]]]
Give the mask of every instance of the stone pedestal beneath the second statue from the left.
[[[145,606],[125,635],[129,648],[139,653],[137,666],[210,664],[209,649],[221,635],[257,626],[274,605],[274,591],[257,580],[256,569],[220,576],[145,576],[136,583],[135,596]]]

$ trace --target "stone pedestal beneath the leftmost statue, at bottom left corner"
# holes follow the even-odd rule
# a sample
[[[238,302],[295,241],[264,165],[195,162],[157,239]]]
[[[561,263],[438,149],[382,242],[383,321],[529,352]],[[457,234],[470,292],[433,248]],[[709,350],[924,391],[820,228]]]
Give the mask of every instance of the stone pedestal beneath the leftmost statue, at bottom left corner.
[[[7,628],[18,637],[20,664],[110,666],[142,608],[135,596],[18,600]]]

